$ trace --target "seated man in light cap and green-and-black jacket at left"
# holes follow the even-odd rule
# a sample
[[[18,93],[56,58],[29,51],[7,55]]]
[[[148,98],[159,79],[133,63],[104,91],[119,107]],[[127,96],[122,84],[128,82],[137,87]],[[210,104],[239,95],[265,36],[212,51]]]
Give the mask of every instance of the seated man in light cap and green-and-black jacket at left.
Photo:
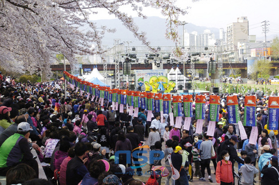
[[[0,176],[5,176],[7,171],[20,164],[29,165],[39,177],[38,163],[30,152],[28,139],[33,129],[27,122],[17,126],[17,132],[10,136],[0,147]]]

